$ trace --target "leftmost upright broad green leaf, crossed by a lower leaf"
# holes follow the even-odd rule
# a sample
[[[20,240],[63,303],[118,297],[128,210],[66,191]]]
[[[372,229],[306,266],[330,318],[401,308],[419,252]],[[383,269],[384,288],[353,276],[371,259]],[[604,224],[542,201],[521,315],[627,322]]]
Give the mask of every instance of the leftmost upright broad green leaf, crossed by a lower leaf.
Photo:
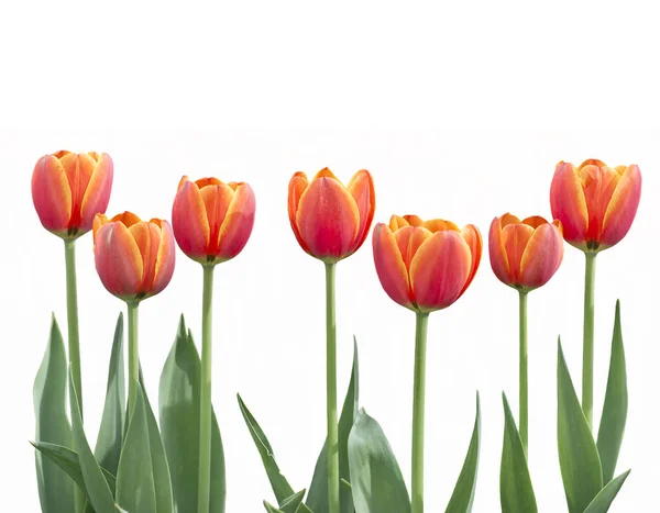
[[[51,323],[48,345],[33,388],[35,440],[70,447],[72,427],[66,416],[67,361],[62,333]],[[74,511],[74,482],[55,462],[35,451],[38,498],[43,513]]]

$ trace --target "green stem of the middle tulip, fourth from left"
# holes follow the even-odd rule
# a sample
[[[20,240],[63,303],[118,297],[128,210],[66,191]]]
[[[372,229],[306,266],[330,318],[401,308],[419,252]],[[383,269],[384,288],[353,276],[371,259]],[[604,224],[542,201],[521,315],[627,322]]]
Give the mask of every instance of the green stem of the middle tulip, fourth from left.
[[[337,425],[337,321],[334,264],[326,264],[326,390],[328,408],[328,506],[339,513],[339,442]]]

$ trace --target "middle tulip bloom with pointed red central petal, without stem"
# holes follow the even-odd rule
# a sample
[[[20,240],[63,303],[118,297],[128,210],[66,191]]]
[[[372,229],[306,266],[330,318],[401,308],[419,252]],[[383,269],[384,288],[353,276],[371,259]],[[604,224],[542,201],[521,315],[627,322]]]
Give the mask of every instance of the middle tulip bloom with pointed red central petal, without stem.
[[[328,168],[311,181],[296,172],[289,182],[288,214],[298,244],[327,264],[362,246],[375,208],[374,182],[365,169],[358,171],[348,187]]]

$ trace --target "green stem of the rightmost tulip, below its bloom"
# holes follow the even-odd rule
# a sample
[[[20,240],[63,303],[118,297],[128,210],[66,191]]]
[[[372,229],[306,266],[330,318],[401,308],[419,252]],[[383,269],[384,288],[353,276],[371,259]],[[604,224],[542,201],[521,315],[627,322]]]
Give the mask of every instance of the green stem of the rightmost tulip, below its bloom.
[[[584,338],[582,345],[582,410],[593,426],[594,417],[594,289],[596,254],[585,253],[584,270]]]

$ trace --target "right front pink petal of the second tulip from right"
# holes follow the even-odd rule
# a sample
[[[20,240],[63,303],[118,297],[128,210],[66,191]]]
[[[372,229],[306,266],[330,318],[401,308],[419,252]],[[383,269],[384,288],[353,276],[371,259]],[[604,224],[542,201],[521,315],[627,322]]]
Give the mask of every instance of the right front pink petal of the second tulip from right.
[[[554,224],[535,230],[520,260],[520,285],[536,289],[546,285],[559,269],[563,258],[563,237]]]

